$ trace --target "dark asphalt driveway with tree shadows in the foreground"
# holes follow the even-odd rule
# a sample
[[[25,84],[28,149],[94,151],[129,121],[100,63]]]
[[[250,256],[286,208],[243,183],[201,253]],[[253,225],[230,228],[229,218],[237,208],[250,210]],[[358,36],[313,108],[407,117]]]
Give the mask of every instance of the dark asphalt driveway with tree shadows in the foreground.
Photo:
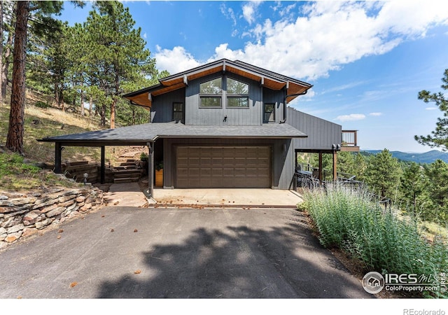
[[[293,209],[104,207],[0,251],[0,298],[369,298]]]

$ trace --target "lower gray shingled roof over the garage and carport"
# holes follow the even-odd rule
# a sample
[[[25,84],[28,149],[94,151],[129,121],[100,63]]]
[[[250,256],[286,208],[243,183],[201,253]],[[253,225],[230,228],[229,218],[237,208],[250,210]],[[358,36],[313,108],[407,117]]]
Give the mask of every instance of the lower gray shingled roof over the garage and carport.
[[[307,137],[294,127],[284,124],[255,126],[183,125],[182,123],[147,123],[109,130],[45,137],[38,141],[59,142],[71,146],[145,145],[159,138],[262,138],[290,139]]]

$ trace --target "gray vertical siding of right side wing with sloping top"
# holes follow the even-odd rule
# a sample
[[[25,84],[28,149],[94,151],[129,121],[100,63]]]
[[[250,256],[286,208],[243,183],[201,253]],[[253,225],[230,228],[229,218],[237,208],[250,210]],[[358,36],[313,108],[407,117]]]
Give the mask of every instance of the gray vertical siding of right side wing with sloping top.
[[[307,134],[294,139],[296,149],[331,150],[332,144],[342,144],[342,126],[288,107],[286,123]]]

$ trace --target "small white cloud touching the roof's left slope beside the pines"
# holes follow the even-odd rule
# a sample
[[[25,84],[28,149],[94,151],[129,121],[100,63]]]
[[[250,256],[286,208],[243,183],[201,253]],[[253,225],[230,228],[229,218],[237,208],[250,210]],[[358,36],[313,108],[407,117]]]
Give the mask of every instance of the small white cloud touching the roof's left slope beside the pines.
[[[157,52],[154,54],[157,61],[157,67],[160,70],[167,70],[169,73],[179,73],[199,66],[200,62],[181,46],[176,46],[172,50],[162,49],[157,46]]]

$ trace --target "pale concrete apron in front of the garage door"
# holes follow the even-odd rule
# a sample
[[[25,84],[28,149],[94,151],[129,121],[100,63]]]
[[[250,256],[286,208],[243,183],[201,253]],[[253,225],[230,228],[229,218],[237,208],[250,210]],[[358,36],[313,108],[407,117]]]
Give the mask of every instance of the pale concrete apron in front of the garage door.
[[[296,209],[302,197],[274,189],[155,189],[156,207],[226,207]]]

